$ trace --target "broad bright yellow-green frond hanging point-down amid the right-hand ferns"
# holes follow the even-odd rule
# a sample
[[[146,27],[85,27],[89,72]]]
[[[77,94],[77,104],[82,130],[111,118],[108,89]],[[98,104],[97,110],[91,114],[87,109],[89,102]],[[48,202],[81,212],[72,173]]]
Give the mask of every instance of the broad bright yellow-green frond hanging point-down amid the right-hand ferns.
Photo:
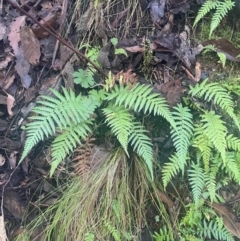
[[[202,116],[202,130],[213,146],[221,154],[223,162],[226,160],[226,134],[227,128],[221,117],[215,114],[214,111],[206,112]]]

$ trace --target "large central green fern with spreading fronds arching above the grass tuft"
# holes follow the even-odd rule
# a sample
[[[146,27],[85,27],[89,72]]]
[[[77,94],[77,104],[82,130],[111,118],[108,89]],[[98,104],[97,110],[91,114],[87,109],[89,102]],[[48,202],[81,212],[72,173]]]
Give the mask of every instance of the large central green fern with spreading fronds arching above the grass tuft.
[[[52,90],[54,97],[41,96],[42,100],[33,108],[37,115],[30,117],[32,122],[26,126],[27,140],[20,162],[40,140],[59,133],[52,143],[52,175],[61,161],[91,133],[91,116],[105,101],[108,105],[102,111],[112,133],[127,155],[130,144],[143,157],[153,178],[151,140],[132,111],[160,115],[174,127],[174,119],[163,97],[151,93],[149,86],[139,84],[134,87],[115,86],[109,92],[93,90],[88,96],[76,95],[65,88],[62,90],[63,94]]]

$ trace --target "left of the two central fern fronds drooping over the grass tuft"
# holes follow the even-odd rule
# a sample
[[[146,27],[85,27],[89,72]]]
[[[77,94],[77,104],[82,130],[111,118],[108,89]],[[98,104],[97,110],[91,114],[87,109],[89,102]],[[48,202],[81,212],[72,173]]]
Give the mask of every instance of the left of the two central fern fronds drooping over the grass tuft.
[[[133,128],[133,116],[124,106],[109,105],[103,109],[106,121],[128,155],[129,135]]]

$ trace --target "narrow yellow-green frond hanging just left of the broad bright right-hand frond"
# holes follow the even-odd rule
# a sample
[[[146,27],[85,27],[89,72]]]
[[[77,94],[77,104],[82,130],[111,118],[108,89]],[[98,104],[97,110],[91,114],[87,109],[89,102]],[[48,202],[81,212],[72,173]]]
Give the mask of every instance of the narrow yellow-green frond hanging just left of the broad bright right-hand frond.
[[[197,126],[194,132],[193,146],[198,148],[204,163],[204,170],[206,173],[209,171],[209,160],[212,154],[211,143],[207,135],[203,131],[202,126]]]

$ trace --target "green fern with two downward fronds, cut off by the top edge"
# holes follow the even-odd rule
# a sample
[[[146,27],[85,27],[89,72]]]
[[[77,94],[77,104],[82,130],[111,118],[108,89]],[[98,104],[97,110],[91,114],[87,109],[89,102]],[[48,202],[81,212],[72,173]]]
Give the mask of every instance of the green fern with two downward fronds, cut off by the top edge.
[[[198,11],[193,26],[195,26],[210,11],[215,10],[210,24],[210,37],[212,32],[218,27],[222,19],[226,17],[227,13],[234,7],[234,5],[235,2],[232,0],[206,0]]]

